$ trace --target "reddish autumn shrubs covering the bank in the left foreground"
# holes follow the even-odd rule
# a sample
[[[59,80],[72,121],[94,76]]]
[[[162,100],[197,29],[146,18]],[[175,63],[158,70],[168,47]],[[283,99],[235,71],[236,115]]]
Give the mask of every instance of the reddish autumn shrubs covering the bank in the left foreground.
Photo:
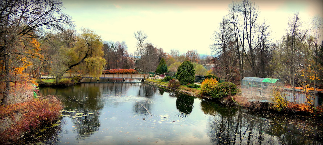
[[[61,101],[53,95],[0,106],[0,123],[4,129],[0,132],[0,144],[23,143],[24,136],[52,126],[62,108]]]

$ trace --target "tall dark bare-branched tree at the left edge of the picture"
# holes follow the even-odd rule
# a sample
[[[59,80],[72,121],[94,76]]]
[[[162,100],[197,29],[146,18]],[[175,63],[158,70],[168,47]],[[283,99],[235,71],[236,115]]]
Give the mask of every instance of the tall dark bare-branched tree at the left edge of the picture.
[[[17,52],[17,46],[21,45],[26,38],[45,39],[40,35],[42,33],[37,33],[37,31],[54,30],[62,25],[71,24],[70,17],[63,14],[62,10],[62,3],[52,0],[3,0],[0,2],[0,57],[5,76],[2,78],[5,82],[5,95],[1,104],[7,103],[10,91],[12,77],[10,62],[13,55],[19,55],[18,57],[22,58],[33,55],[25,53],[29,52],[26,50],[28,47],[21,47],[23,49]]]

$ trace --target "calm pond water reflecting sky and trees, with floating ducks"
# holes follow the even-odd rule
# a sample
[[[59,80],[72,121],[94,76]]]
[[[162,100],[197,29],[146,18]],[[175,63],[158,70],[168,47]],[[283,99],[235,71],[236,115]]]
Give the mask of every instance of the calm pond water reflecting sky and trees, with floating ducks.
[[[130,81],[131,82],[131,81]],[[145,83],[39,88],[59,95],[58,127],[45,144],[322,144],[322,121],[249,113]],[[85,115],[76,116],[76,113]]]

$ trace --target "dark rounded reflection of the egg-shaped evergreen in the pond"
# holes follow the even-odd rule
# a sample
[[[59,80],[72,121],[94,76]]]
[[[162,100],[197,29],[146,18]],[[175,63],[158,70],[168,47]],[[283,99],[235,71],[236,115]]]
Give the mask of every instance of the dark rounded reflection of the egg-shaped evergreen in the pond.
[[[193,111],[194,97],[182,93],[177,94],[176,108],[178,111],[189,115]]]

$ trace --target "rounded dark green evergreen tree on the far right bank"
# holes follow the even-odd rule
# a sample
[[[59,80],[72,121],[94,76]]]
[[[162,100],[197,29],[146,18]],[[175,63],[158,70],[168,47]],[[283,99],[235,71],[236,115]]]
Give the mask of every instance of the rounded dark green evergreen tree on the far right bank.
[[[177,78],[181,84],[194,83],[194,66],[190,61],[184,61],[177,69]]]

